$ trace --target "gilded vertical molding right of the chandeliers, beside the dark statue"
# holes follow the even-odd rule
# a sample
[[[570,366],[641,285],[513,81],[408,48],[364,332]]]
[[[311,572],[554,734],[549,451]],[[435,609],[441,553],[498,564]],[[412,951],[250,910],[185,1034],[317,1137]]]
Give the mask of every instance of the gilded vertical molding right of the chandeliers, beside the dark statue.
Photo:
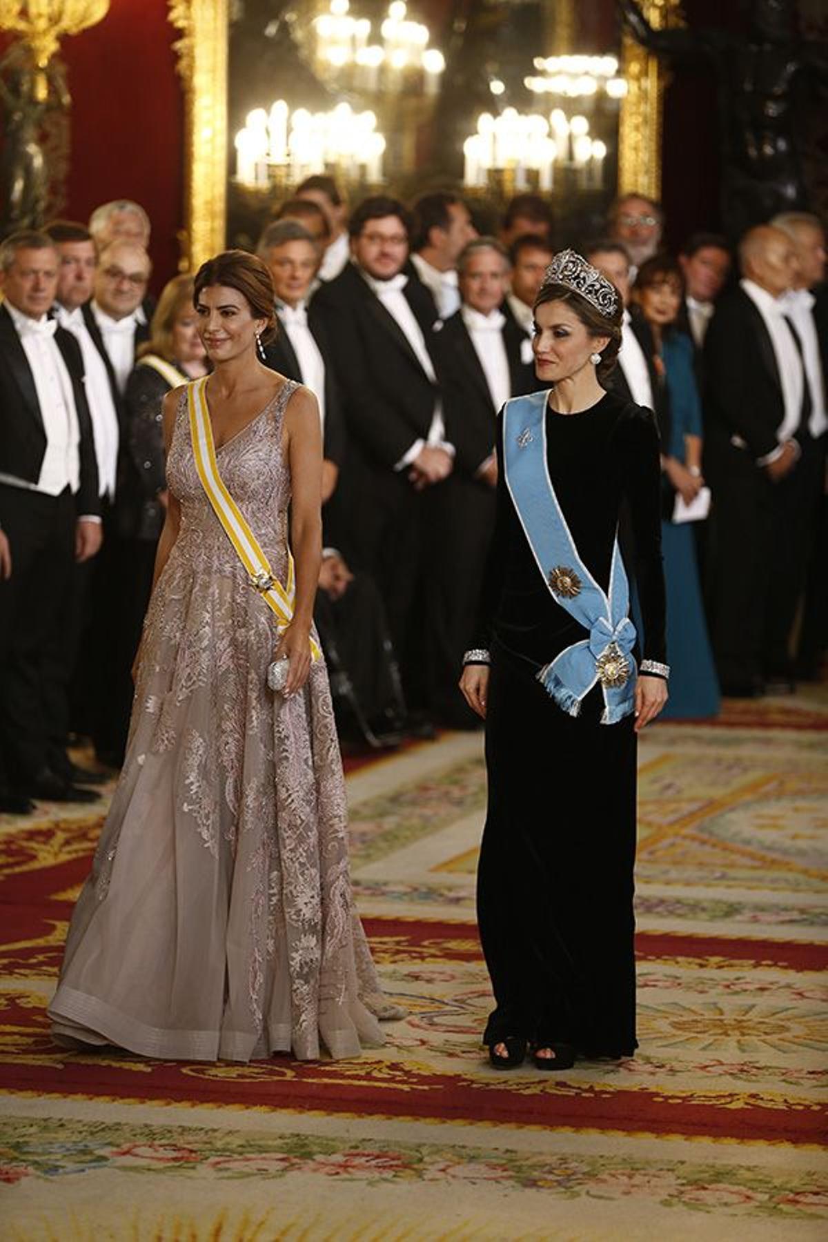
[[[680,0],[644,0],[642,10],[655,30],[680,26]],[[621,72],[628,92],[618,119],[618,194],[662,196],[662,123],[664,67],[628,34],[621,42]]]

